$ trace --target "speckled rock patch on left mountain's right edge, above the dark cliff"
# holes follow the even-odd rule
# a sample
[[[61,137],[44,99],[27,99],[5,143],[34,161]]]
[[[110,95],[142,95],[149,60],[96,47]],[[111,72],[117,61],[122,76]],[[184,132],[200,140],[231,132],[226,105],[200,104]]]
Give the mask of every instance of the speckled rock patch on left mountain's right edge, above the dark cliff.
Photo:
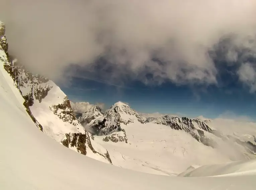
[[[71,108],[70,101],[67,96],[64,97],[62,104],[53,105],[50,109],[64,122],[68,122],[74,126],[78,125],[78,123],[75,122],[76,115]]]

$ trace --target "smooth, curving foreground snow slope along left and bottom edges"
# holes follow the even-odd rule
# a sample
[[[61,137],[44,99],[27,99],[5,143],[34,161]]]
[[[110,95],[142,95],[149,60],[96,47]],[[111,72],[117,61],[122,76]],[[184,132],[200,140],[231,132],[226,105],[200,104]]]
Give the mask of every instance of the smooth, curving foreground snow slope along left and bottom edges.
[[[182,178],[130,171],[65,148],[35,127],[19,91],[0,72],[0,184],[3,190],[253,190],[255,176]],[[12,116],[15,115],[15,119]]]

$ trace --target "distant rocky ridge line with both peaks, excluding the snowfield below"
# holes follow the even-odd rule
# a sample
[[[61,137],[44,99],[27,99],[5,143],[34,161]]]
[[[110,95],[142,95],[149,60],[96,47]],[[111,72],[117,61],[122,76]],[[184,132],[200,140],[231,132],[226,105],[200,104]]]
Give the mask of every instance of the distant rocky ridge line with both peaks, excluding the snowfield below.
[[[219,137],[222,140],[229,140],[232,138],[231,136],[222,135],[222,133],[218,130],[211,129],[207,125],[212,122],[210,119],[201,120],[200,118],[191,119],[187,117],[170,117],[168,115],[159,118],[144,118],[135,110],[131,109],[130,106],[122,102],[115,103],[103,116],[97,106],[90,109],[88,113],[84,113],[83,120],[87,119],[92,121],[91,118],[93,118],[94,120],[91,123],[88,122],[89,125],[97,131],[97,135],[104,135],[105,137],[103,141],[106,142],[125,141],[127,143],[128,139],[126,137],[124,127],[122,126],[132,123],[134,124],[134,122],[135,124],[138,124],[139,122],[140,124],[145,125],[149,123],[165,125],[174,130],[185,131],[196,141],[212,148],[218,147],[218,142],[216,142],[218,139],[215,139],[216,137]],[[81,119],[81,117],[79,119]],[[215,137],[213,138],[213,136]],[[237,138],[233,138],[232,141],[245,147],[246,150],[251,154],[256,154],[256,145],[254,145],[252,142],[241,141]]]

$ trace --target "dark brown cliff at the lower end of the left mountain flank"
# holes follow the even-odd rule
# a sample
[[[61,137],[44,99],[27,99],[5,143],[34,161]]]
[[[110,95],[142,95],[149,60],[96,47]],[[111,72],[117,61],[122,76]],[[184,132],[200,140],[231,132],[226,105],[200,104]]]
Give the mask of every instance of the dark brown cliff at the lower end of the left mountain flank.
[[[89,148],[94,154],[98,154],[102,156],[103,158],[107,159],[110,164],[112,164],[112,161],[110,159],[110,156],[108,154],[108,151],[106,150],[106,153],[101,154],[97,152],[92,144],[89,133],[66,133],[66,138],[61,141],[61,143],[69,147],[75,147],[77,149],[77,152],[80,154],[86,155],[87,154],[87,148]]]

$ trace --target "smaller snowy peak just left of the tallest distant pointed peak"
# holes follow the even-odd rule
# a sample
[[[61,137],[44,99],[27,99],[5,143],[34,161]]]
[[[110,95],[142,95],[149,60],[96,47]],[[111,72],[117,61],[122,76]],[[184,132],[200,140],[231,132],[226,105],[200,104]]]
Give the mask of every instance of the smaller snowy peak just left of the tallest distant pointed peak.
[[[82,125],[86,125],[86,124],[92,122],[93,120],[95,120],[96,118],[102,117],[102,116],[103,116],[103,113],[102,113],[101,109],[97,105],[94,105],[93,107],[91,107],[91,109],[84,112],[78,118],[78,122]]]

